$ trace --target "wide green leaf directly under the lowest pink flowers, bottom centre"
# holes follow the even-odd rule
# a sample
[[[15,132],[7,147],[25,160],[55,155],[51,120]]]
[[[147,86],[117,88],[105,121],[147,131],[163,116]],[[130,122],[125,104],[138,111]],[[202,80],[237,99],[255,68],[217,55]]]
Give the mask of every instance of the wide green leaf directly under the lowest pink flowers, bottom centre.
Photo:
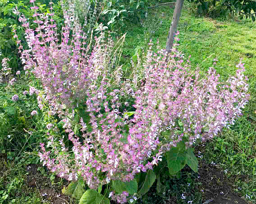
[[[137,192],[138,189],[138,184],[136,180],[131,180],[130,182],[113,180],[113,188],[119,194],[121,194],[123,191],[129,192],[129,194],[135,194],[135,192]]]

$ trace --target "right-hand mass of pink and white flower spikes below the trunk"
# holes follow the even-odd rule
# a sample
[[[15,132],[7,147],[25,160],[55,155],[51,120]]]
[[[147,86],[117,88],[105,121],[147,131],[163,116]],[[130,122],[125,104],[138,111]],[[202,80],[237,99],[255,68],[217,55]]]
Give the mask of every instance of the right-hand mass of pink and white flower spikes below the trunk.
[[[136,93],[134,123],[147,120],[151,131],[166,131],[162,150],[184,139],[191,146],[212,138],[234,124],[249,99],[241,62],[236,77],[221,82],[213,68],[202,75],[199,69],[191,70],[175,47],[172,51],[169,56],[148,51],[145,84]]]

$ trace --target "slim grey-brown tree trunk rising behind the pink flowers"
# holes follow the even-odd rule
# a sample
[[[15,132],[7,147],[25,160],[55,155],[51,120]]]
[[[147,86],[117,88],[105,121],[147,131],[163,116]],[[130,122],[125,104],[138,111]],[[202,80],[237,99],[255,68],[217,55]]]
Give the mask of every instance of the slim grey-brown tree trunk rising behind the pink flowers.
[[[183,7],[184,0],[177,0],[175,3],[175,9],[173,13],[173,20],[172,23],[170,24],[170,30],[168,33],[167,41],[166,41],[166,51],[169,53],[170,50],[173,47],[173,40],[174,40],[174,35],[177,31],[177,26],[179,23],[179,17],[180,14],[182,13],[182,7]]]

